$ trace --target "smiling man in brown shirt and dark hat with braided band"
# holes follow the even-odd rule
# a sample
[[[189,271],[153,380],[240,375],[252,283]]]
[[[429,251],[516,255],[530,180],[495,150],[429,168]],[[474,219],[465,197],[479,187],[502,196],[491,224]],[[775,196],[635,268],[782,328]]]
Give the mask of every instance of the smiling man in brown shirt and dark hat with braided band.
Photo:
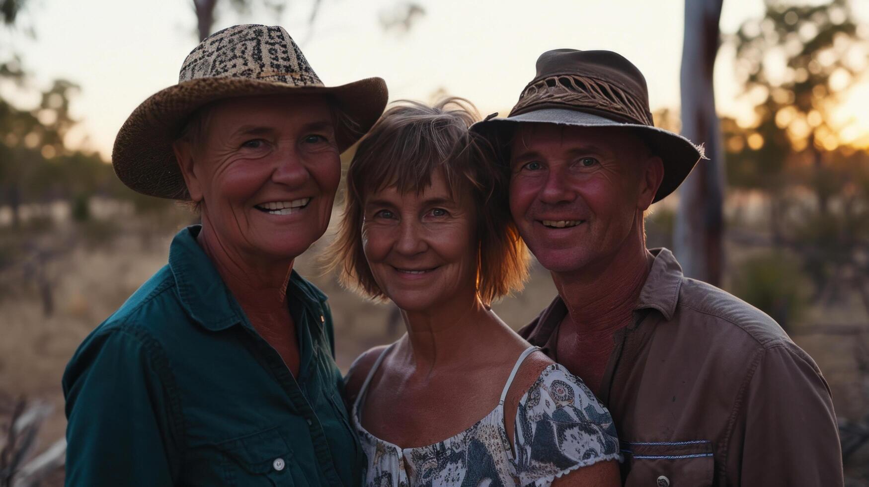
[[[585,380],[628,486],[842,485],[833,401],[772,318],[647,250],[643,216],[702,157],[653,127],[646,80],[609,51],[552,50],[507,118],[510,210],[558,297],[521,334]]]

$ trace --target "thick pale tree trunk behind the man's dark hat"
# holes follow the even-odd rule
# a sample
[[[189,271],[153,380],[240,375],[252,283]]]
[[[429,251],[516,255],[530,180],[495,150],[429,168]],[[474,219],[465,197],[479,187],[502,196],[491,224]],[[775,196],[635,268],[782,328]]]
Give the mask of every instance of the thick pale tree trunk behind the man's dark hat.
[[[713,67],[722,0],[686,0],[682,47],[682,134],[703,143],[706,157],[680,187],[673,247],[685,275],[720,284],[724,260],[724,151],[715,113]]]

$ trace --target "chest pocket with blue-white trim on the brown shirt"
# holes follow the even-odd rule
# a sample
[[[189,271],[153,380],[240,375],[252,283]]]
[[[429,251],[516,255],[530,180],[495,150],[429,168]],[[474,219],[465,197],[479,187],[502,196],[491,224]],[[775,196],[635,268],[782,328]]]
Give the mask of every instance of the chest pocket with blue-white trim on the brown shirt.
[[[715,462],[712,443],[622,442],[625,487],[709,487]]]

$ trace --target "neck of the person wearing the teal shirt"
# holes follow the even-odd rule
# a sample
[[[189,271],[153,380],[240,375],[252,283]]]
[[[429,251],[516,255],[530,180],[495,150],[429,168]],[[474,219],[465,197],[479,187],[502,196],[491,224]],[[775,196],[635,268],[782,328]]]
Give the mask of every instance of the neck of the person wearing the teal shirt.
[[[204,215],[196,243],[215,264],[223,283],[251,321],[258,321],[260,316],[274,316],[275,310],[287,310],[287,285],[293,259],[267,263],[248,257],[225,244]]]

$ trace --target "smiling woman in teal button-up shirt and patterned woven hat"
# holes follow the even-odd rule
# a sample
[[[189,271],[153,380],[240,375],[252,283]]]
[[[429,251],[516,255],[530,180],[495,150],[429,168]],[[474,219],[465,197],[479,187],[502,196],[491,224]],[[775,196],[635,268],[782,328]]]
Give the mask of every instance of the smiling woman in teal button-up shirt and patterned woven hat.
[[[241,25],[134,110],[118,177],[202,225],[70,360],[68,485],[357,484],[332,317],[292,267],[386,99],[380,78],[323,87],[285,30]]]

